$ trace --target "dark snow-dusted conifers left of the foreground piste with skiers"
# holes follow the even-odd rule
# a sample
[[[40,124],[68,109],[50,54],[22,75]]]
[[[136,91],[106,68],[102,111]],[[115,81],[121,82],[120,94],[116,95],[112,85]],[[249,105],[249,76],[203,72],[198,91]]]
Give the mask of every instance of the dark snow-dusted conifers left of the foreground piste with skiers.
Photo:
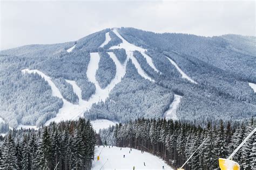
[[[0,144],[3,169],[91,169],[96,136],[90,121],[79,119],[10,130]]]

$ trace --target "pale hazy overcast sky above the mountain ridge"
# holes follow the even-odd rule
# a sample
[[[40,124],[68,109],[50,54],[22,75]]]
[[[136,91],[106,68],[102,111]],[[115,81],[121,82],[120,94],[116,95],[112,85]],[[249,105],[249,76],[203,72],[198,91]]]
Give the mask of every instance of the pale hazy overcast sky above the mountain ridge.
[[[2,1],[0,49],[80,39],[108,27],[255,36],[255,2]]]

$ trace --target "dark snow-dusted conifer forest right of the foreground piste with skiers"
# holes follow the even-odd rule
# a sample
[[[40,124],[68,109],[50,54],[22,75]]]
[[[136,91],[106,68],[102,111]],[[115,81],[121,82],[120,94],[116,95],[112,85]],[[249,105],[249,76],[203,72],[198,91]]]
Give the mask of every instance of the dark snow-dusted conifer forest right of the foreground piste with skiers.
[[[185,169],[210,169],[217,168],[218,158],[227,158],[255,127],[255,119],[246,123],[208,122],[207,126],[200,126],[187,121],[142,118],[100,130],[99,134],[104,144],[150,152],[174,167],[183,165],[207,139]],[[241,169],[256,168],[255,133],[233,160],[240,164]]]

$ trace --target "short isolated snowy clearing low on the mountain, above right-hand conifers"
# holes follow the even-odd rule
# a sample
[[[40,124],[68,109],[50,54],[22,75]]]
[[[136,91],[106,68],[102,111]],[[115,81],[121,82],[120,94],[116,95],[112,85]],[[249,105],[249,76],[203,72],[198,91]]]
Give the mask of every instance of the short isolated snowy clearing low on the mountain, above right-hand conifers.
[[[164,117],[166,119],[173,119],[173,120],[177,120],[177,108],[179,106],[179,103],[181,101],[182,96],[179,95],[174,95],[174,99],[173,102],[170,104],[170,107],[168,110],[165,111]]]

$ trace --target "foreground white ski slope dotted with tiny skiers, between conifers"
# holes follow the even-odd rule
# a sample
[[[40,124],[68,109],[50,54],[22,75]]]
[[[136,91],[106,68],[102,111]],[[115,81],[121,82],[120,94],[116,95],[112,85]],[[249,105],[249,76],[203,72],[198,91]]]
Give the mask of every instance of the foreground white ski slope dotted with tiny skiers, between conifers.
[[[99,169],[132,169],[133,166],[135,170],[138,169],[173,169],[167,165],[162,159],[139,150],[132,149],[129,153],[130,148],[113,146],[110,148],[108,146],[99,148],[95,147],[95,159],[92,162],[92,170]],[[100,154],[100,155],[99,155]],[[99,160],[97,161],[97,155],[99,155]],[[125,155],[125,158],[123,158]],[[144,166],[144,162],[145,165]]]

